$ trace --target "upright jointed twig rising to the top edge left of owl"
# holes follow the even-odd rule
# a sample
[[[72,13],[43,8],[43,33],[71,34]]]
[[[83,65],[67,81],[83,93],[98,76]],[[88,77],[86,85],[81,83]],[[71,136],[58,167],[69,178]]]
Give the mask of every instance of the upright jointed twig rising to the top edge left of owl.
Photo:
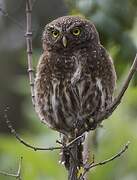
[[[26,44],[27,44],[27,57],[28,57],[28,73],[29,83],[31,87],[32,104],[35,107],[34,97],[34,69],[32,65],[32,0],[26,0]]]

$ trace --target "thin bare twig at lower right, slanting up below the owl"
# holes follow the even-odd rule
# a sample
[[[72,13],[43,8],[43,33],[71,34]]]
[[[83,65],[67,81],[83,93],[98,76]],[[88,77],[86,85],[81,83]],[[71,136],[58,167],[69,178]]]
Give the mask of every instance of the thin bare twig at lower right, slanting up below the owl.
[[[85,165],[85,171],[83,172],[82,176],[84,177],[84,175],[92,168],[96,167],[96,166],[102,166],[105,165],[111,161],[113,161],[114,159],[117,159],[118,157],[120,157],[129,147],[130,142],[128,141],[127,144],[125,144],[125,146],[114,156],[112,156],[109,159],[106,159],[104,161],[98,162],[98,163],[94,163],[94,161],[92,163],[90,163],[89,165]],[[81,177],[82,177],[81,176]],[[80,178],[81,178],[80,177]]]

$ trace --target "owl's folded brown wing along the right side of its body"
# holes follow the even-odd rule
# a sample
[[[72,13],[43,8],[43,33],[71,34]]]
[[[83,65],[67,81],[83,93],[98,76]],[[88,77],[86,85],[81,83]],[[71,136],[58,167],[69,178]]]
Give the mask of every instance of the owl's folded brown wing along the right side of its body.
[[[112,58],[102,45],[99,44],[96,50],[92,51],[91,58],[92,67],[89,66],[89,68],[95,84],[94,91],[100,97],[98,97],[100,100],[99,110],[104,111],[112,102],[116,85],[116,72]]]

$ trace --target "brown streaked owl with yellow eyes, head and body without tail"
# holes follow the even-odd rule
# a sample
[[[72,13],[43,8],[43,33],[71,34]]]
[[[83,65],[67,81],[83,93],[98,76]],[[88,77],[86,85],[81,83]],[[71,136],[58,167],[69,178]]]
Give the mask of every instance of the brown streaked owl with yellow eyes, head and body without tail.
[[[41,121],[67,136],[83,126],[94,129],[93,119],[112,102],[116,80],[95,26],[81,17],[60,17],[46,25],[42,42],[35,79]]]

